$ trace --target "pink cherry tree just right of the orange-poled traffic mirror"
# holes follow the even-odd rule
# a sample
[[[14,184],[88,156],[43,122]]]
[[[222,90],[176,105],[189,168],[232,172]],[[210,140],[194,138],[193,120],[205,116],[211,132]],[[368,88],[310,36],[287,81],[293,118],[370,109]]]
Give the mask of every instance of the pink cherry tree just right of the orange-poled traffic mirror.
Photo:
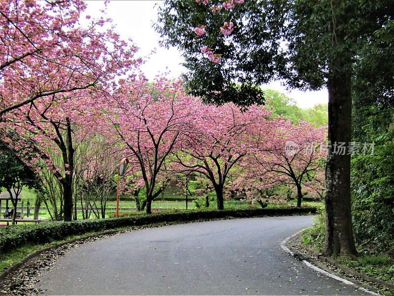
[[[180,81],[163,78],[153,84],[125,83],[119,97],[103,124],[115,131],[124,143],[124,156],[138,167],[146,192],[142,207],[146,205],[150,214],[152,200],[171,178],[166,171],[170,152],[183,141],[180,135],[190,130],[201,103],[184,94]]]

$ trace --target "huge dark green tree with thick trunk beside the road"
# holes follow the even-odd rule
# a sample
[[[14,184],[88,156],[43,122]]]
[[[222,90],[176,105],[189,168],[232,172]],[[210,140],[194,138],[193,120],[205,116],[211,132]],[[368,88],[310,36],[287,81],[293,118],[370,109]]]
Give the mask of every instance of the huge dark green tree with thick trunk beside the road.
[[[156,30],[166,45],[183,52],[190,92],[206,102],[240,105],[262,102],[242,86],[277,77],[300,89],[328,88],[328,141],[351,142],[352,67],[362,44],[393,19],[391,0],[257,0],[213,14],[195,0],[165,0]],[[234,23],[225,37],[224,21]],[[205,25],[196,38],[193,29]],[[207,45],[222,54],[218,64],[204,57]],[[239,83],[239,92],[234,91]],[[250,83],[250,84],[248,84]],[[233,92],[236,95],[233,95]],[[342,153],[341,153],[342,154]],[[357,255],[351,220],[350,155],[328,149],[326,166],[326,249],[330,256]]]

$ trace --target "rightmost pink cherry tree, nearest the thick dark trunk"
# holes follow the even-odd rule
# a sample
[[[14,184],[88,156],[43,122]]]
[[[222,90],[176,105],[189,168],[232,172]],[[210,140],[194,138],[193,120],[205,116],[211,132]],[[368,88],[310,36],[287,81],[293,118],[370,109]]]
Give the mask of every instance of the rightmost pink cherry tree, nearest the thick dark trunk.
[[[293,185],[297,189],[297,207],[301,206],[302,186],[314,186],[324,172],[327,127],[315,127],[309,122],[280,119],[281,129],[273,149],[249,155],[253,168],[245,174],[259,188],[272,185]],[[313,182],[312,182],[313,181]]]

